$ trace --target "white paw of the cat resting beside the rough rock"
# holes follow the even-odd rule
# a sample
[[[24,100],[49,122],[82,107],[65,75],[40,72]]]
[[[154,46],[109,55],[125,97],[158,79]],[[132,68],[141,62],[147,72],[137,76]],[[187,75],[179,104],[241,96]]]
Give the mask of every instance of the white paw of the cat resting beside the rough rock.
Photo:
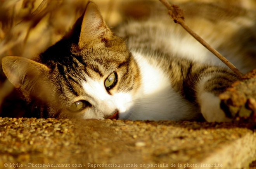
[[[201,113],[207,122],[230,122],[232,119],[226,117],[220,108],[220,98],[212,93],[204,92],[199,97]]]

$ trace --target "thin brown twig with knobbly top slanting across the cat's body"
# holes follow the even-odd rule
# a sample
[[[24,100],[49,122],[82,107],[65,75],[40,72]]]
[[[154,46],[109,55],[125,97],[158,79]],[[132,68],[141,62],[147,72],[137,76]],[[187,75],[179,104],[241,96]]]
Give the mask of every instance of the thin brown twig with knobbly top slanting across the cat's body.
[[[218,51],[216,51],[213,47],[211,47],[204,39],[202,39],[199,35],[197,35],[192,29],[184,21],[184,15],[182,9],[178,5],[170,5],[170,3],[166,2],[166,0],[159,0],[161,3],[166,6],[169,10],[169,14],[171,19],[174,20],[175,23],[180,24],[190,35],[192,35],[198,42],[200,42],[206,49],[212,52],[215,56],[217,56],[223,63],[225,63],[228,68],[237,74],[241,79],[243,79],[244,75],[237,69],[232,63],[230,63],[224,56],[222,56]]]

